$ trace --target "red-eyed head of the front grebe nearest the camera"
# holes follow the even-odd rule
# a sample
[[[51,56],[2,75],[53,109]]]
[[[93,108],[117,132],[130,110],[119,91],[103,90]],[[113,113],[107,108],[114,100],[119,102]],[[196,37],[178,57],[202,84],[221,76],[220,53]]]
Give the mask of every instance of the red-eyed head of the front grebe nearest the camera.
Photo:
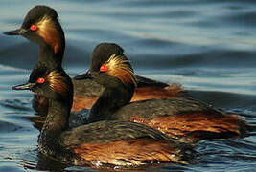
[[[27,83],[12,87],[13,90],[31,90],[38,96],[48,99],[73,98],[73,85],[70,77],[62,70],[49,70],[39,66],[33,70]]]

